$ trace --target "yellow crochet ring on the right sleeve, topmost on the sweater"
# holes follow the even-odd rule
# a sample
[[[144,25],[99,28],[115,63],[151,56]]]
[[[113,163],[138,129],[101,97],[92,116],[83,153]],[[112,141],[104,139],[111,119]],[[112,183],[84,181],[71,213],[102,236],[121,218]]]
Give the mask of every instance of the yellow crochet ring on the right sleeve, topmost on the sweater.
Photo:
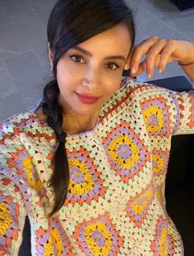
[[[158,106],[151,106],[142,111],[144,116],[144,123],[148,132],[158,132],[163,128],[163,111]],[[149,125],[151,116],[156,116],[158,119],[157,125]]]

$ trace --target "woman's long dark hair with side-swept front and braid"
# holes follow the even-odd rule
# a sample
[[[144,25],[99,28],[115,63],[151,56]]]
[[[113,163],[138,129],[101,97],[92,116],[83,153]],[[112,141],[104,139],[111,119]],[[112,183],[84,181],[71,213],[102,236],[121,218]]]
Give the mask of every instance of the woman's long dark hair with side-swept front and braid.
[[[128,28],[133,46],[135,26],[132,12],[124,0],[59,0],[50,13],[47,39],[54,56],[54,80],[45,85],[42,109],[59,142],[54,153],[54,172],[50,180],[55,199],[50,215],[54,215],[64,205],[69,186],[69,163],[65,148],[67,133],[62,130],[63,113],[58,102],[58,61],[73,46],[115,27],[118,23]]]

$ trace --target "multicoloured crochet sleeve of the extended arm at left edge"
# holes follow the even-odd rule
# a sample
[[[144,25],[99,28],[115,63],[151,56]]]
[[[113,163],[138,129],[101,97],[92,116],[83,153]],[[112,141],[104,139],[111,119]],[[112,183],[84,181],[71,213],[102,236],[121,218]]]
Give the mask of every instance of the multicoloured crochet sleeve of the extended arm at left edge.
[[[27,153],[17,128],[0,123],[0,255],[17,255],[31,190],[26,172]]]

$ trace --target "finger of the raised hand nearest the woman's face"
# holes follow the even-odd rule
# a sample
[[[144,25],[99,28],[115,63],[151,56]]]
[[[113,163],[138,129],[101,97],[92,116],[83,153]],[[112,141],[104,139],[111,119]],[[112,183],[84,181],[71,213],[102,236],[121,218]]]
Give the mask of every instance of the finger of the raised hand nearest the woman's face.
[[[144,54],[149,51],[150,47],[153,46],[156,41],[159,40],[158,36],[152,36],[149,39],[142,41],[138,46],[135,46],[131,51],[130,58],[130,70],[131,74],[134,75],[138,70],[140,61]]]

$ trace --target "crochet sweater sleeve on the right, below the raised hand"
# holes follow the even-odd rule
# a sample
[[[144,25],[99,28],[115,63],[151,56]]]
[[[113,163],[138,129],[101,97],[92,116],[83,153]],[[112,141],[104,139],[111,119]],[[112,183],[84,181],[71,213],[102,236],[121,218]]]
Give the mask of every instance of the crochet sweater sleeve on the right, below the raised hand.
[[[148,84],[136,89],[149,138],[194,133],[193,90],[180,93]]]

